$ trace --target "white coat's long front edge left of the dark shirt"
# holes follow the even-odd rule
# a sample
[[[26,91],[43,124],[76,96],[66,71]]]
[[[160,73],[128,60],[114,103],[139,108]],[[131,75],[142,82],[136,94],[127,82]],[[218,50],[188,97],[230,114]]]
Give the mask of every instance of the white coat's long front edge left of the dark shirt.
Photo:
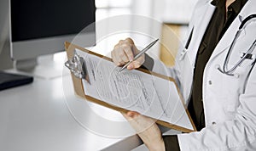
[[[210,1],[200,1],[198,3],[197,8],[195,8],[195,12],[193,14],[193,18],[190,21],[190,28],[194,28],[193,34],[191,36],[191,41],[189,43],[188,49],[185,50],[185,55],[183,57],[183,61],[181,63],[190,64],[187,66],[187,70],[184,70],[183,75],[185,76],[183,78],[183,97],[186,101],[189,100],[190,92],[191,92],[191,86],[193,82],[193,72],[194,72],[194,66],[195,66],[195,57],[197,50],[199,48],[199,45],[201,43],[201,39],[204,36],[205,31],[207,30],[207,25],[209,24],[212,14],[215,10],[215,6],[211,4]],[[183,65],[182,65],[183,66]],[[188,103],[188,102],[186,102]]]

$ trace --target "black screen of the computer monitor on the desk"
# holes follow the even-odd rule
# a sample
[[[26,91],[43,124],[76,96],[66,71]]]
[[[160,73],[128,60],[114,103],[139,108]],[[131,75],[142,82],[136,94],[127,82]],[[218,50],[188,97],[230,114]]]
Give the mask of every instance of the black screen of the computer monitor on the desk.
[[[12,42],[77,34],[95,22],[92,0],[11,0],[10,6]]]

